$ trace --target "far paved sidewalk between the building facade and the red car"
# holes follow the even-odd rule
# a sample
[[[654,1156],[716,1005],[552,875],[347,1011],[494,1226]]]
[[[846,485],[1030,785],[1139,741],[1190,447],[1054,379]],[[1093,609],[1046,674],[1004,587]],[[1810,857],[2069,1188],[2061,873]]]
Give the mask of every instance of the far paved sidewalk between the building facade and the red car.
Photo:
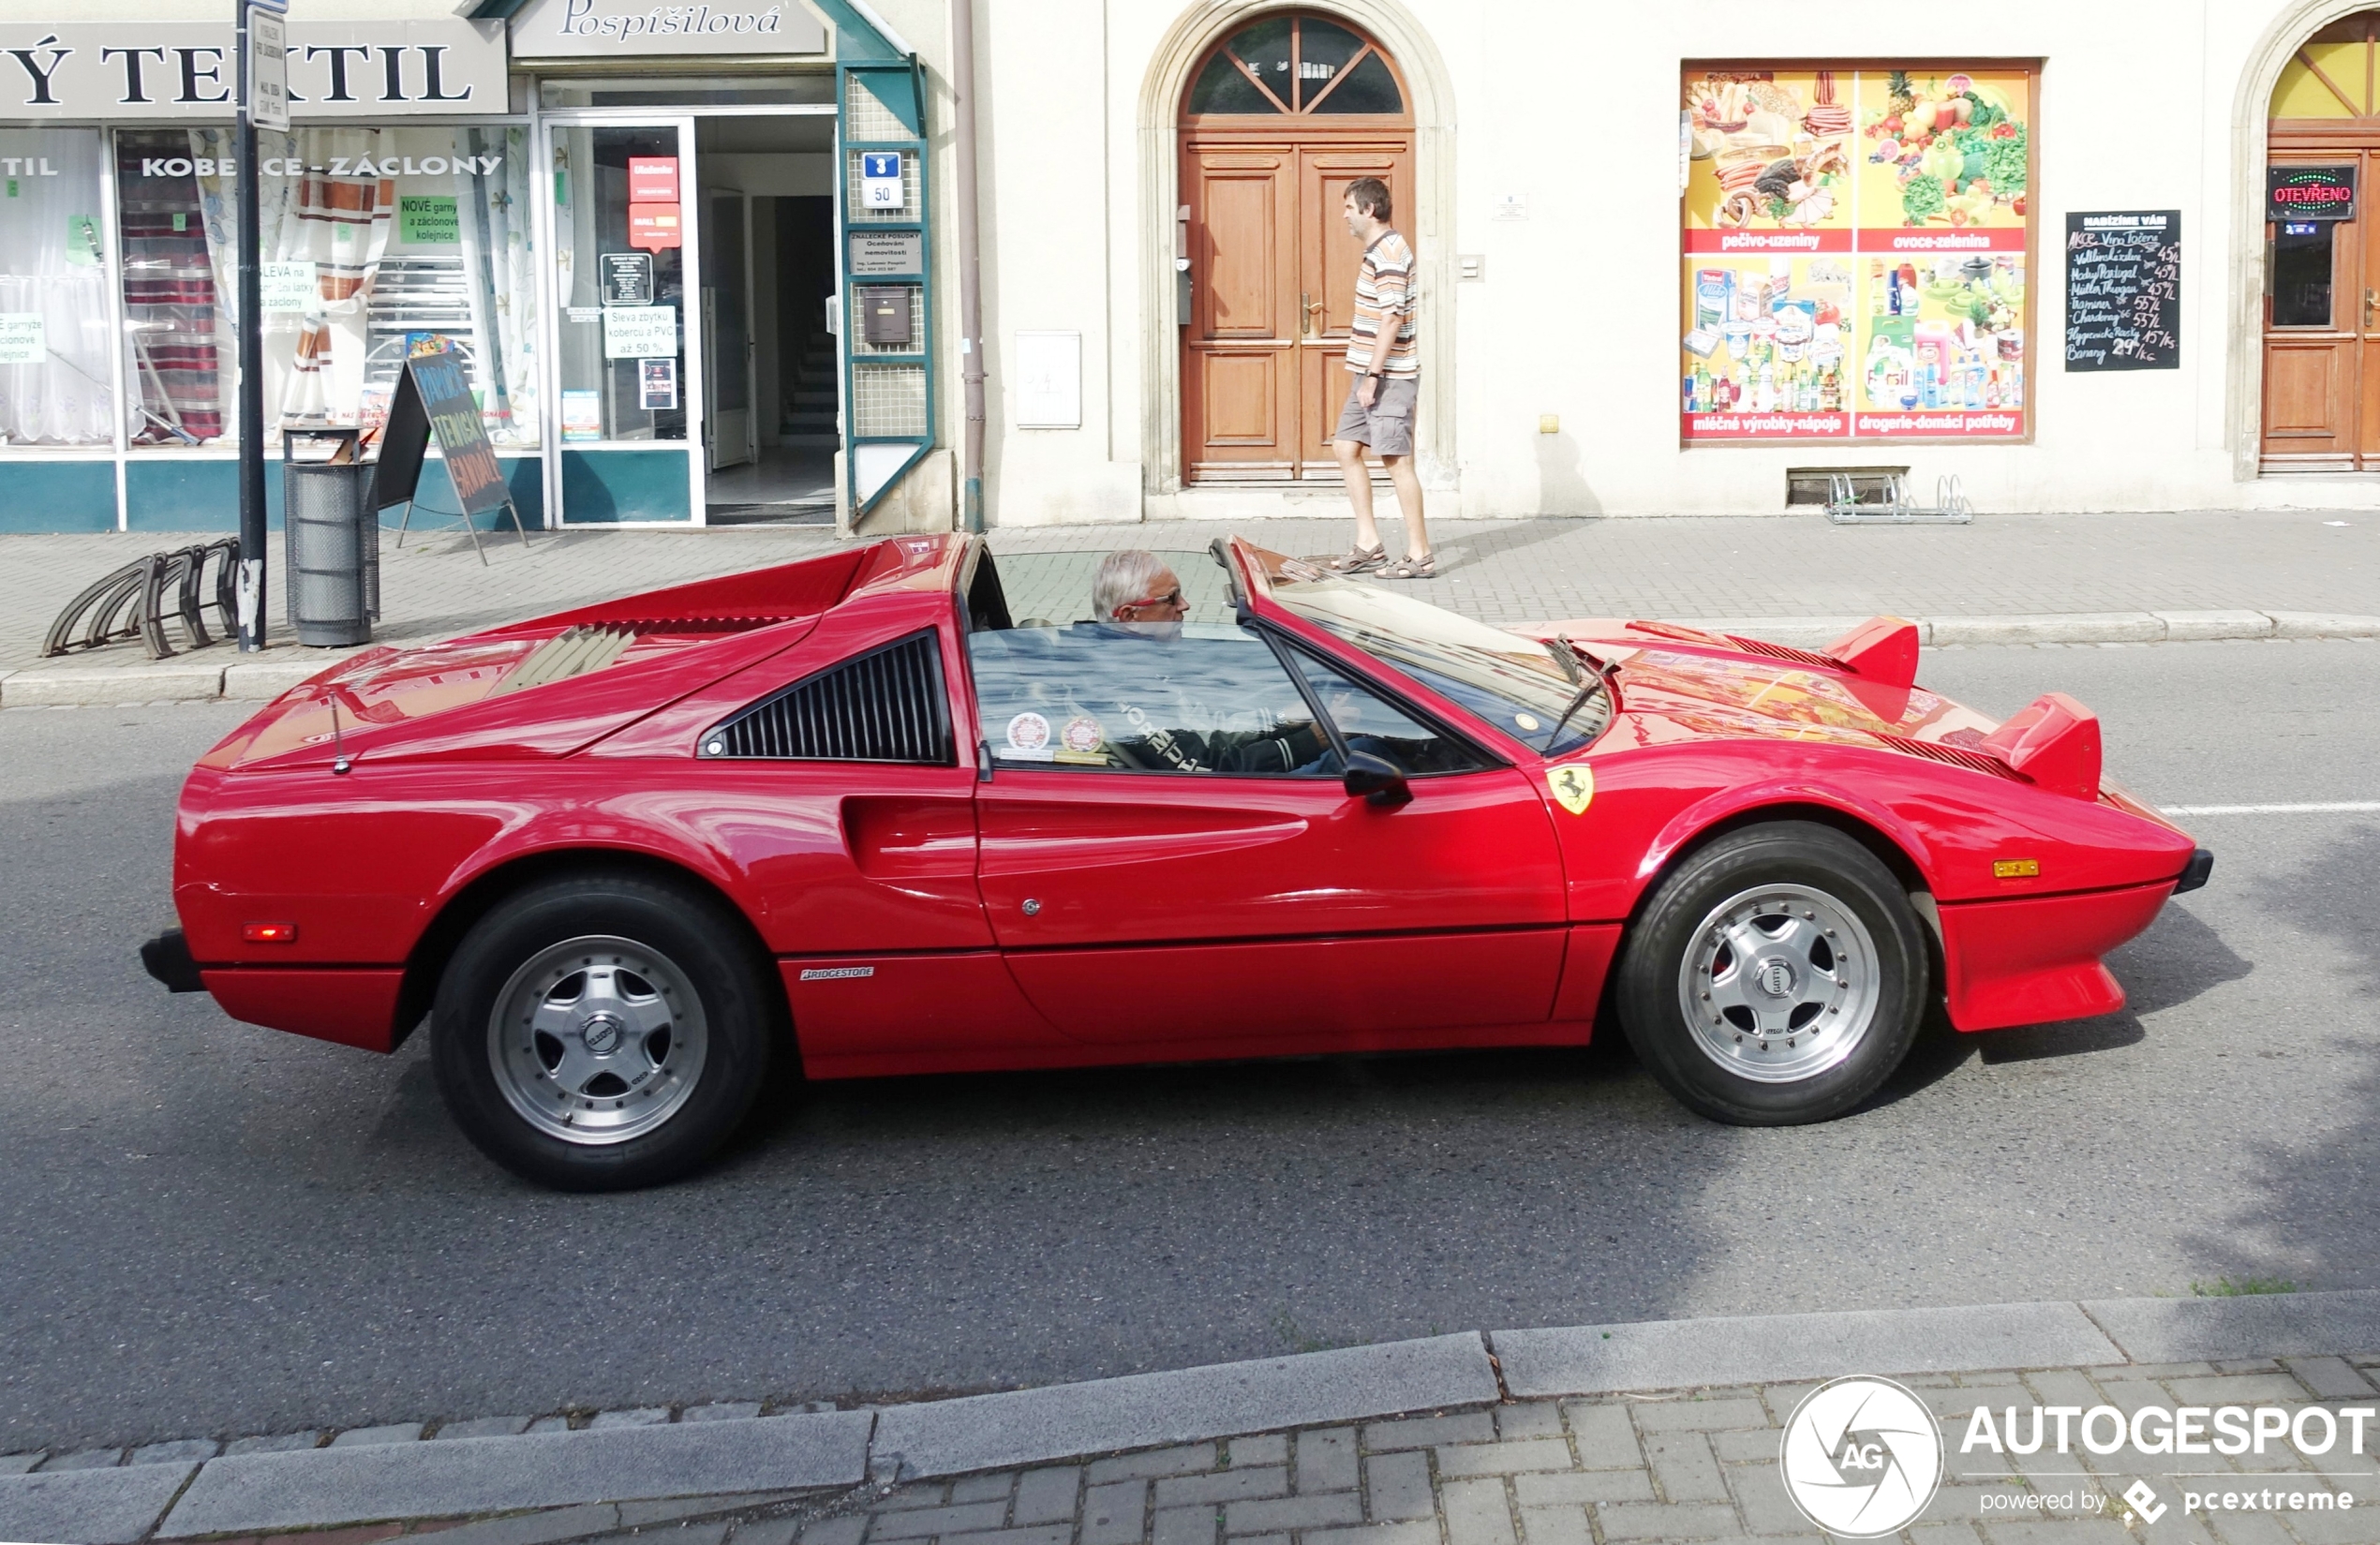
[[[1321,502],[1319,502],[1321,505]],[[1238,531],[1288,552],[1333,552],[1342,519],[1040,526],[997,552],[1145,545],[1200,550]],[[271,698],[336,652],[283,640],[150,664],[138,645],[38,659],[50,619],[86,583],[169,538],[0,538],[0,705]],[[1821,514],[1742,519],[1442,521],[1440,578],[1414,593],[1492,624],[1659,617],[1778,643],[1825,643],[1894,612],[1928,643],[2154,643],[2163,638],[2380,633],[2380,519],[2370,514],[1990,514],[1973,526],[1830,526]],[[445,638],[538,612],[823,552],[821,526],[566,531],[531,550],[455,536],[383,540],[381,643]],[[176,628],[178,631],[178,628]]]

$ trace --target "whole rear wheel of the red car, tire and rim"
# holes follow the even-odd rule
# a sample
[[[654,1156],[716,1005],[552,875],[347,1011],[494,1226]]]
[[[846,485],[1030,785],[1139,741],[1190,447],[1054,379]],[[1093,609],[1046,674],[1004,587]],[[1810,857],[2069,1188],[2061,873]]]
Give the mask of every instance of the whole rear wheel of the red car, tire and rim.
[[[674,1181],[735,1131],[769,1076],[766,959],[690,886],[571,876],[490,909],[431,1009],[438,1088],[464,1136],[564,1190]]]

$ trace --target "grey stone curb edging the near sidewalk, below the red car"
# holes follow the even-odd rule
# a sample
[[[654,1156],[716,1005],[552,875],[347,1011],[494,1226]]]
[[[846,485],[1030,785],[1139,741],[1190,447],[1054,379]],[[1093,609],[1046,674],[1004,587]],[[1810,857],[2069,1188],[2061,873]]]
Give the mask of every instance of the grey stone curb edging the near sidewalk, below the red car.
[[[1490,1347],[1502,1362],[1502,1388]],[[2344,1359],[2354,1357],[2380,1386],[2375,1355],[2380,1290],[1459,1333],[862,1412],[697,1421],[681,1414],[674,1424],[576,1433],[17,1474],[0,1476],[0,1538],[112,1545],[148,1538],[150,1528],[157,1535],[255,1533],[555,1507],[590,1521],[605,1514],[593,1528],[569,1531],[593,1533],[612,1519],[626,1524],[628,1512],[643,1516],[640,1502],[643,1509],[671,1507],[664,1497],[712,1497],[719,1507],[707,1509],[716,1512],[759,1493],[850,1488],[878,1471],[909,1481],[1161,1445],[1185,1445],[1171,1450],[1180,1455],[1207,1450],[1211,1464],[1211,1440],[1247,1433],[1418,1412],[1509,1412],[1516,1407],[1507,1400],[1552,1395],[1735,1388],[1835,1374],[1918,1376],[1923,1383],[1925,1376],[2028,1366],[2152,1369],[2313,1357],[2325,1378],[2361,1400],[2351,1393],[2359,1376]],[[1483,1424],[1485,1416],[1461,1421]],[[174,1507],[159,1526],[167,1502]],[[588,1505],[600,1507],[583,1512]],[[547,1528],[557,1516],[490,1519],[469,1528],[490,1531],[490,1545],[521,1531],[526,1545],[564,1538]]]

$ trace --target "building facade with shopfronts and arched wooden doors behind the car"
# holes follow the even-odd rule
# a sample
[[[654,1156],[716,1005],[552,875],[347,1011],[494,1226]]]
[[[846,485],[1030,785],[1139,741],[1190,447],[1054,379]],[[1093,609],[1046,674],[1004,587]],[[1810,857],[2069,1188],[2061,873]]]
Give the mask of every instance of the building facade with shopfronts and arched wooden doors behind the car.
[[[219,12],[0,0],[0,531],[231,524]],[[2375,502],[2375,55],[2349,0],[976,0],[988,519],[1330,512],[1357,176],[1440,514]],[[947,526],[950,71],[947,0],[290,0],[269,412],[455,348],[533,521]]]

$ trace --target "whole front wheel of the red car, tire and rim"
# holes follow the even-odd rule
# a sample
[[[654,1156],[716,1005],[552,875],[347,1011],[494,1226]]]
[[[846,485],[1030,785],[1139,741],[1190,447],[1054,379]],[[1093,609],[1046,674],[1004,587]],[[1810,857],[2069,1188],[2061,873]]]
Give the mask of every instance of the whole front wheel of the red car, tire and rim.
[[[1714,1121],[1825,1121],[1880,1086],[1925,1017],[1909,893],[1814,821],[1733,831],[1661,878],[1616,983],[1621,1028]]]

